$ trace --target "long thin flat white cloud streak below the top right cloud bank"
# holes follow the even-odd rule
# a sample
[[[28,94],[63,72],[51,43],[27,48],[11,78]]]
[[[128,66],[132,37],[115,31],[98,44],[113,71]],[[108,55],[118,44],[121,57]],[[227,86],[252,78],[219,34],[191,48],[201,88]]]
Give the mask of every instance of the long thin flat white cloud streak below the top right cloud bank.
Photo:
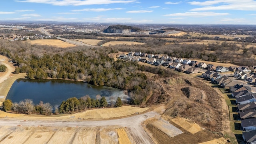
[[[217,13],[217,12],[185,12],[166,14],[164,16],[226,16],[229,13]]]

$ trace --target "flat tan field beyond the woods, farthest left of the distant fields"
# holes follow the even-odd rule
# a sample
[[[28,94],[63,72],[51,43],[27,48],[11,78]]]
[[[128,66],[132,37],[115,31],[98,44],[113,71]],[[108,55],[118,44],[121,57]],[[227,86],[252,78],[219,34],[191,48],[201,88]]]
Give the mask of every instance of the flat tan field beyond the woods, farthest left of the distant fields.
[[[57,46],[60,48],[68,48],[68,47],[76,46],[74,44],[69,44],[67,42],[63,42],[62,40],[27,40],[24,42],[29,42],[31,45],[33,45],[33,44],[50,45],[50,46]]]

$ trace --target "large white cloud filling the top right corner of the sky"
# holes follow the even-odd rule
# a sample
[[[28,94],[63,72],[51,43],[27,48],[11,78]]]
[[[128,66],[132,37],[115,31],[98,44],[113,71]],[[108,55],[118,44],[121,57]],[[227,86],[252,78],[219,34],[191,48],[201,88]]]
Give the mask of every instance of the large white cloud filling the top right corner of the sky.
[[[194,8],[191,11],[205,10],[256,10],[256,1],[254,0],[208,0],[204,2],[188,2],[188,4],[204,6],[202,8]],[[218,4],[218,6],[213,6]]]

